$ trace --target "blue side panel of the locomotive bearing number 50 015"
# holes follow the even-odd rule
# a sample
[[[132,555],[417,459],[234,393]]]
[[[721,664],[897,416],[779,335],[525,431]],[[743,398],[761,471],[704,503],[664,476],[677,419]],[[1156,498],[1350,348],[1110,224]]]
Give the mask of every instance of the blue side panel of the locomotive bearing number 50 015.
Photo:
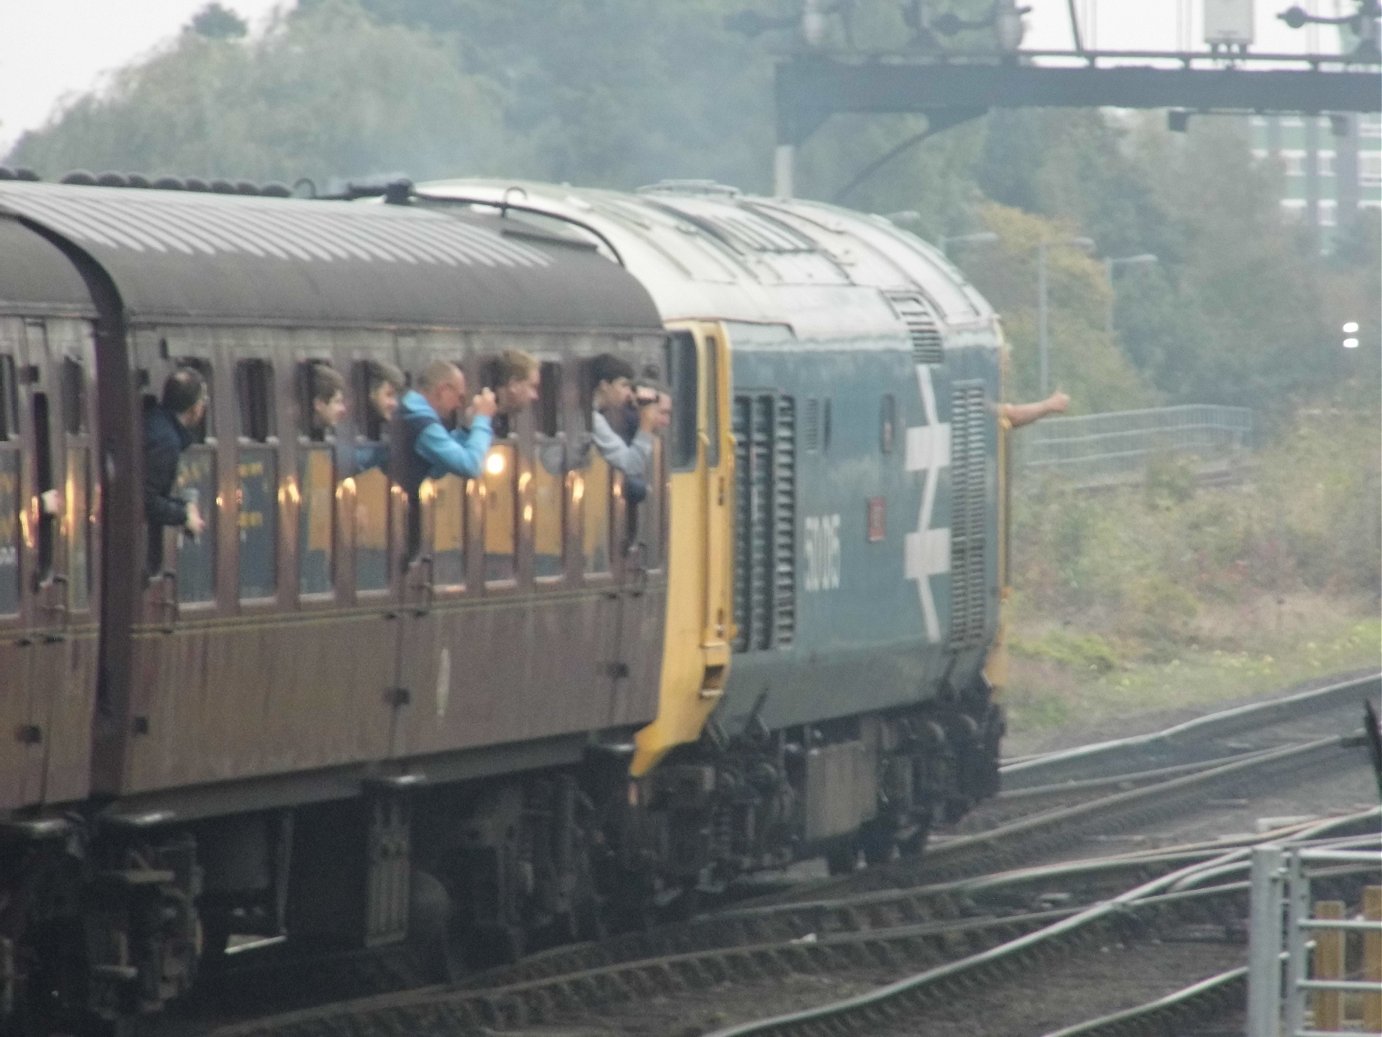
[[[938,625],[948,610],[937,577],[945,572],[933,566],[929,574],[936,617],[929,629],[918,581],[908,571],[909,538],[919,535],[925,496],[920,473],[908,469],[907,430],[940,426],[941,415],[925,420],[907,340],[875,333],[803,343],[738,326],[734,380],[737,402],[773,390],[791,400],[796,413],[795,629],[791,637],[782,629],[768,639],[739,630],[726,723],[734,730],[764,694],[761,718],[770,727],[927,697],[944,668]],[[887,395],[894,397],[894,418],[884,442]],[[738,485],[771,492],[771,480],[764,487],[753,483],[741,476]],[[741,521],[752,521],[750,507],[738,502]],[[920,532],[930,532],[933,543],[945,536],[944,525]],[[738,528],[735,535],[737,570],[761,568],[753,531]],[[927,546],[934,559],[937,546]],[[741,574],[737,589],[737,615],[752,617],[757,610],[741,600],[755,595],[752,581]]]

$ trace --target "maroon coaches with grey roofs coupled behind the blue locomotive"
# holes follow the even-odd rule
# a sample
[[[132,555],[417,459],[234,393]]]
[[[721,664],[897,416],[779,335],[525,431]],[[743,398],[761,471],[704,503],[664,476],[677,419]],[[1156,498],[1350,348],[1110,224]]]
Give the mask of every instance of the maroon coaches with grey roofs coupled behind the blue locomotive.
[[[474,931],[571,914],[572,769],[655,715],[665,595],[658,481],[627,552],[586,368],[663,346],[621,267],[511,220],[0,181],[0,1005],[152,1011],[287,919],[395,940],[419,870]],[[542,397],[481,478],[424,484],[410,553],[357,459],[388,441],[366,364],[474,387],[504,348]],[[334,441],[314,362],[351,386]],[[149,577],[141,408],[178,365],[207,530]]]

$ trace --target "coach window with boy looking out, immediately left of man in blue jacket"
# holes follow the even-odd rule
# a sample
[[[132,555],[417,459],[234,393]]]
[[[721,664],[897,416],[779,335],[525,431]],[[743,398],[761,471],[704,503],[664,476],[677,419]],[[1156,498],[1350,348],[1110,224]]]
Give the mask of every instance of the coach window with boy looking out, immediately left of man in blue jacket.
[[[402,373],[366,359],[351,376],[358,431],[355,481],[355,592],[388,589],[388,419],[402,395]],[[390,393],[392,390],[392,393]],[[439,574],[435,574],[439,579]]]

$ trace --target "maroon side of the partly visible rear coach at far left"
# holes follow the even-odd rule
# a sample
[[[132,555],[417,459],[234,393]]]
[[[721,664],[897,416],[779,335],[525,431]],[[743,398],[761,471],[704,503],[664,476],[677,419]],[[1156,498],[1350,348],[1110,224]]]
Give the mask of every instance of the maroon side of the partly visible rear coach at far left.
[[[95,691],[90,328],[0,324],[0,806],[83,796]],[[8,684],[8,679],[6,682]],[[8,691],[8,689],[7,689]]]

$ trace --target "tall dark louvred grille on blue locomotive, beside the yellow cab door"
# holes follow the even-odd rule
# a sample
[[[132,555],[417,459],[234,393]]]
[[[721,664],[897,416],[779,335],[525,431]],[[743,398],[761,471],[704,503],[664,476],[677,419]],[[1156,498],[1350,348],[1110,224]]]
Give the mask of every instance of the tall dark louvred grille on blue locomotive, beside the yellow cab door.
[[[734,398],[735,651],[796,633],[796,407],[775,393]]]

